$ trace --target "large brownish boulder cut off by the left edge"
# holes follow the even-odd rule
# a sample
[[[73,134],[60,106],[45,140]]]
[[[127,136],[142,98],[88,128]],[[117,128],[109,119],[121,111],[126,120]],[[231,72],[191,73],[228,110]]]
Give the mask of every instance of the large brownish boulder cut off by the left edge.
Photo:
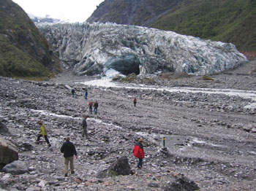
[[[10,141],[0,137],[0,169],[14,160],[18,160],[18,150]]]

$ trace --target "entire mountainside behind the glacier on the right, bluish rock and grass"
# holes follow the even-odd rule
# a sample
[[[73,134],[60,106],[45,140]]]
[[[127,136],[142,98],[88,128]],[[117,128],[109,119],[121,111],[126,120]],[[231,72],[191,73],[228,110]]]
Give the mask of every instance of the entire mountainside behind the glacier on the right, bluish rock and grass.
[[[256,51],[254,0],[105,0],[87,20],[147,26]]]

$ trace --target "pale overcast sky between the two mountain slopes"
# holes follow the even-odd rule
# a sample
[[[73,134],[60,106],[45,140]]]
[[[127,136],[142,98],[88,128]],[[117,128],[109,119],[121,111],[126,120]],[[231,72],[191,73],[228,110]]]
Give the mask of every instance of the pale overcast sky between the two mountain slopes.
[[[27,14],[60,18],[70,22],[83,22],[104,0],[12,0]]]

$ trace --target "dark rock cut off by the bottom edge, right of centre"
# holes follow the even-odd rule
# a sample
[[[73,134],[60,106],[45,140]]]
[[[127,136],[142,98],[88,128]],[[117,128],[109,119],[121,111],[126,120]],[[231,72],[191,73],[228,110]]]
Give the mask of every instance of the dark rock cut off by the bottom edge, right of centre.
[[[194,191],[200,188],[195,184],[195,182],[187,179],[185,176],[180,176],[175,182],[167,184],[167,186],[162,188],[164,191]]]

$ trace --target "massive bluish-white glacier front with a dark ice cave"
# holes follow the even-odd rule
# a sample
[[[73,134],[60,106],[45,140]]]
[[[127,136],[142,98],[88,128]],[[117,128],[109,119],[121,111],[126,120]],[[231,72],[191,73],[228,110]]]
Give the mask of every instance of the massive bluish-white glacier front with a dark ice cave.
[[[75,74],[213,74],[246,62],[233,44],[154,28],[114,23],[39,26],[63,63]]]

